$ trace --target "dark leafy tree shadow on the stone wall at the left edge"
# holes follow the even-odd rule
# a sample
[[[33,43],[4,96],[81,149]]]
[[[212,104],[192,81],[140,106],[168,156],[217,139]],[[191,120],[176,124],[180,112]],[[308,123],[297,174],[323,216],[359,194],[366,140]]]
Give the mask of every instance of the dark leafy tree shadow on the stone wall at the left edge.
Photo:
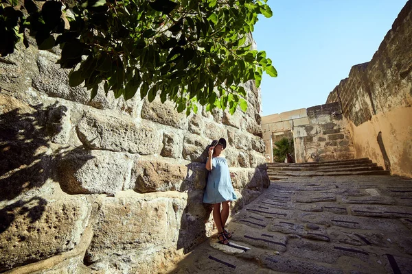
[[[62,130],[60,119],[67,111],[65,106],[57,102],[47,107],[29,106],[3,95],[0,101],[0,201],[18,199],[0,210],[1,234],[12,225],[17,214],[30,219],[30,223],[41,219],[47,200],[31,190],[56,177],[53,172],[56,162],[83,149],[54,151],[52,148],[50,139]]]

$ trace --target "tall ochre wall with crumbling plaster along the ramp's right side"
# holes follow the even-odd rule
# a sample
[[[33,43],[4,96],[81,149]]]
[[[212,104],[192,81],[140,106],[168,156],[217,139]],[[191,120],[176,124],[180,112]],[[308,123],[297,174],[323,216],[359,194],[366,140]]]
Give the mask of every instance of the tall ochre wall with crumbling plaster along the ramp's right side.
[[[353,66],[328,97],[341,101],[356,158],[412,177],[412,1],[370,62]]]

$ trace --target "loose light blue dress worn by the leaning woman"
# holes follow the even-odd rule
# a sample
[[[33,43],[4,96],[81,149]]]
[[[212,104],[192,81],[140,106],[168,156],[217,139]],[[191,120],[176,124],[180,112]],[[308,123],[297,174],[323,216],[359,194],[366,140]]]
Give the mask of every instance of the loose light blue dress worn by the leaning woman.
[[[237,197],[231,184],[226,159],[223,157],[212,158],[211,165],[212,169],[207,177],[203,203],[221,203],[222,201],[236,200]]]

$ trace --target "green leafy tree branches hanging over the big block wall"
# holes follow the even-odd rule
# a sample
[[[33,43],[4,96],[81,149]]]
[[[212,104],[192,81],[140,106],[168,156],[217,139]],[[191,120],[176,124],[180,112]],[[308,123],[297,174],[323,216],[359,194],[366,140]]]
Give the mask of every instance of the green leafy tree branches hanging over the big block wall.
[[[19,3],[23,2],[23,4]],[[39,2],[39,1],[36,1]],[[248,34],[258,14],[272,16],[266,0],[1,0],[0,54],[14,51],[28,29],[38,49],[60,47],[58,63],[71,69],[69,84],[84,84],[91,99],[107,93],[176,103],[179,112],[238,105],[247,110],[241,83],[277,71]],[[65,27],[68,21],[69,27]]]

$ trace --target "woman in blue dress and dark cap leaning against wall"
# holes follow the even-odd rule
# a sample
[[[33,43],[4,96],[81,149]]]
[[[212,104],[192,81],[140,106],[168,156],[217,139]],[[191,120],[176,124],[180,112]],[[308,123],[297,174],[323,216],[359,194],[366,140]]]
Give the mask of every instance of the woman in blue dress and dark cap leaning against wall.
[[[209,171],[203,203],[213,204],[213,219],[218,229],[218,242],[229,245],[231,233],[225,229],[229,217],[229,202],[236,200],[231,184],[229,166],[222,152],[226,149],[225,138],[214,140],[209,147],[206,169]],[[220,205],[222,210],[220,211]]]

